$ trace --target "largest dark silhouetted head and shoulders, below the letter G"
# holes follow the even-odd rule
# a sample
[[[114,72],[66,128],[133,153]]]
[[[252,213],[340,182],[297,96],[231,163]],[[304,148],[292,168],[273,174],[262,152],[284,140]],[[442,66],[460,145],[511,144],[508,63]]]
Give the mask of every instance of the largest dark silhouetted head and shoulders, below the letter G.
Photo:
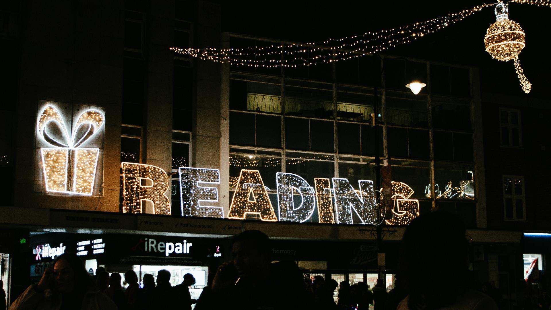
[[[408,295],[397,310],[494,310],[482,292],[467,288],[468,241],[456,215],[444,211],[415,218],[402,238],[401,275]]]

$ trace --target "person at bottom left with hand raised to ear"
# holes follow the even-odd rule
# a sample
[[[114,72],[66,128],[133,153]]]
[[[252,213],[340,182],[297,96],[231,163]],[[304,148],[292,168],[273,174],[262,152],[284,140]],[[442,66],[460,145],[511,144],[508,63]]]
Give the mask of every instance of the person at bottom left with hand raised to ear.
[[[29,286],[9,310],[116,310],[117,306],[101,293],[84,264],[75,254],[56,258],[53,269],[44,271],[39,284]]]

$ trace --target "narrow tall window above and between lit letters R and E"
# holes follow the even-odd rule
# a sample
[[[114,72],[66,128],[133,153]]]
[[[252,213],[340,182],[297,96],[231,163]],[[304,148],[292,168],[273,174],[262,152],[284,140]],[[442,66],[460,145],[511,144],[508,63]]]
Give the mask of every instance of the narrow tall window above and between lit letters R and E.
[[[172,171],[170,194],[172,215],[181,216],[180,175],[178,168],[191,166],[191,132],[172,131]]]

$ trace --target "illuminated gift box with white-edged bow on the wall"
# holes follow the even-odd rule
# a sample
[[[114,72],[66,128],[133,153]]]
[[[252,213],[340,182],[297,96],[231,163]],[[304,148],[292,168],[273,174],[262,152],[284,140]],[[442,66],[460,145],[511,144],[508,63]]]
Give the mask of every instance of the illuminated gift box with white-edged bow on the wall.
[[[40,149],[47,192],[92,195],[99,148],[81,146],[98,132],[104,121],[101,111],[86,110],[80,114],[69,135],[54,106],[48,105],[42,110],[36,127],[44,141],[53,146]],[[53,130],[57,130],[60,137],[54,135]]]

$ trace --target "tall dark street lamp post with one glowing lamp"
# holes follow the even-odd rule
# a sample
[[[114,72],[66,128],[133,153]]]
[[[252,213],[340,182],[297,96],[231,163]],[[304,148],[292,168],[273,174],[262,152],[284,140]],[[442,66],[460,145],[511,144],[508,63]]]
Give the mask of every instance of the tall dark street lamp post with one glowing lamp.
[[[376,57],[375,57],[376,56]],[[377,58],[378,57],[378,58]],[[380,63],[377,61],[380,59],[382,61],[382,68],[380,66]],[[407,76],[407,64],[409,63],[409,60],[406,58],[398,57],[393,58],[395,60],[404,60],[405,61],[405,67],[406,67],[406,81],[408,82],[405,86],[412,90],[412,92],[417,95],[423,87],[426,86],[425,83],[422,82],[422,78],[419,77],[412,77],[411,79],[408,79]],[[381,188],[381,157],[379,154],[379,96],[378,96],[378,85],[377,82],[382,77],[382,73],[385,71],[385,58],[381,57],[379,54],[375,53],[373,57],[373,64],[374,64],[374,90],[373,90],[373,112],[374,112],[374,146],[375,146],[375,159],[373,163],[375,164],[375,201],[380,201],[381,193],[379,189]],[[380,204],[379,204],[380,205]],[[376,226],[376,243],[375,248],[377,250],[377,282],[381,284],[385,284],[385,255],[381,252],[381,245],[382,245],[382,221],[384,221],[383,218],[381,218],[381,210],[377,210],[377,223],[381,223],[380,225]],[[381,255],[382,254],[382,255]],[[386,284],[385,284],[385,290],[386,290]]]

